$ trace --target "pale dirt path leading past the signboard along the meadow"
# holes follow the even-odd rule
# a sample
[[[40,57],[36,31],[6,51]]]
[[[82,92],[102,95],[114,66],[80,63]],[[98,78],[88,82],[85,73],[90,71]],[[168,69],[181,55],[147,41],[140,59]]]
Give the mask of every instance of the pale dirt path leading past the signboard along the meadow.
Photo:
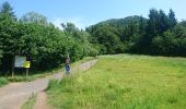
[[[75,72],[77,70],[83,70],[83,71],[88,70],[89,68],[94,65],[96,61],[97,60],[91,60],[89,62],[82,63],[79,66],[72,69],[72,73]],[[21,109],[21,106],[24,105],[24,102],[28,99],[30,96],[45,90],[46,87],[48,86],[49,80],[51,78],[61,80],[63,77],[62,74],[63,74],[62,72],[59,72],[54,75],[47,76],[45,78],[38,78],[33,82],[11,83],[4,87],[1,87],[0,109]],[[45,94],[43,94],[40,98],[43,98],[42,100],[45,100]],[[37,101],[39,101],[39,98]],[[38,104],[38,107],[40,107],[40,104]],[[42,108],[35,108],[35,109],[44,109],[44,108],[42,106]]]

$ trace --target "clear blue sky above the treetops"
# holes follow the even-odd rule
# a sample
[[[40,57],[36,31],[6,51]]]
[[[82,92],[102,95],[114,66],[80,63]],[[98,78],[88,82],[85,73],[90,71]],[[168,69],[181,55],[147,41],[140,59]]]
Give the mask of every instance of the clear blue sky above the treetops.
[[[5,0],[0,0],[0,3]],[[44,14],[56,26],[72,22],[78,27],[130,15],[148,17],[149,10],[162,9],[165,13],[172,8],[177,20],[186,20],[186,0],[7,0],[13,7],[15,14],[34,11]]]

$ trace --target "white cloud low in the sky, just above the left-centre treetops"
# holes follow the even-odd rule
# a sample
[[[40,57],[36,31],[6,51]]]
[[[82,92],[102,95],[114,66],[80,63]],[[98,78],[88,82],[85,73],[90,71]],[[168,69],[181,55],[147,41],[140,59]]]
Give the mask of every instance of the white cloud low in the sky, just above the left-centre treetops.
[[[61,23],[68,23],[68,22],[70,22],[70,23],[73,23],[78,28],[82,28],[82,29],[84,29],[85,28],[85,24],[84,24],[84,20],[85,19],[83,19],[83,17],[69,17],[69,19],[63,19],[63,17],[55,17],[53,21],[51,21],[51,23],[55,25],[55,26],[57,26],[57,27],[59,27],[60,29],[62,29],[62,27],[61,27]]]

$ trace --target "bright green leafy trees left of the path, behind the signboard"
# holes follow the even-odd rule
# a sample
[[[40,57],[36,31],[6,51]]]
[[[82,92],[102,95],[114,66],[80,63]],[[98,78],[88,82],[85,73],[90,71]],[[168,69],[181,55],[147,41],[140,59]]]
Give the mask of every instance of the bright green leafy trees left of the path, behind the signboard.
[[[62,25],[63,31],[36,12],[19,20],[4,2],[0,10],[0,72],[11,71],[14,56],[26,56],[33,70],[47,70],[65,63],[67,55],[75,61],[97,53],[88,40],[89,33],[71,23]]]

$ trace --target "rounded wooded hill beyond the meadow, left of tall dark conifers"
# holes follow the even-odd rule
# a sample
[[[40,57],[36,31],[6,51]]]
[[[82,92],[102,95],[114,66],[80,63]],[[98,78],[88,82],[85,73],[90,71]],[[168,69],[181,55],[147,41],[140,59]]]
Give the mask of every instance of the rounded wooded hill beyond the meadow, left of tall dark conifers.
[[[86,28],[91,41],[100,45],[101,53],[121,53],[129,51],[142,36],[148,20],[142,16],[128,16],[100,22]]]

